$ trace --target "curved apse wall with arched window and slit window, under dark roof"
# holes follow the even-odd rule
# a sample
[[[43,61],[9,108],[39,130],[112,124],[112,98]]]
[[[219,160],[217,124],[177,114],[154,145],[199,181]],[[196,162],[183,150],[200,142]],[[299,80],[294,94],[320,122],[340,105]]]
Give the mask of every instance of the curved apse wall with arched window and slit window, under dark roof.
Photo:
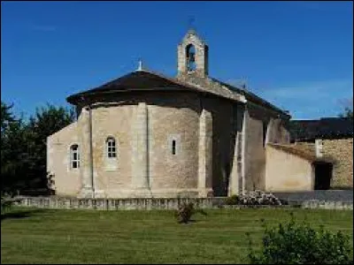
[[[92,110],[93,170],[96,193],[101,193],[97,196],[198,193],[201,108],[196,94],[148,93],[97,101],[117,102],[116,106],[96,106]],[[117,140],[115,164],[105,161],[104,141],[108,136]],[[175,155],[172,140],[176,143]],[[143,186],[141,178],[146,178]]]

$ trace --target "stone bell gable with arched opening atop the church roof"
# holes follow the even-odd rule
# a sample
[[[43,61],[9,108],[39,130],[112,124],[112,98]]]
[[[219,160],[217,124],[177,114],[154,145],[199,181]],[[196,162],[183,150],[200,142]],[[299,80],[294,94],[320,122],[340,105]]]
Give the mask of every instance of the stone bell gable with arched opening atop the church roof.
[[[196,74],[199,77],[208,75],[208,45],[196,34],[194,29],[189,29],[178,45],[178,76]]]

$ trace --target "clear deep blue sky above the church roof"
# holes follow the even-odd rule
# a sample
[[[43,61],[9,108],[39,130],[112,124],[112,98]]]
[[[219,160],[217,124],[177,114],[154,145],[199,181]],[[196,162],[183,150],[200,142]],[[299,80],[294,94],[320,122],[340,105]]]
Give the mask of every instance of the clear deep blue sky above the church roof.
[[[189,18],[209,45],[210,75],[290,110],[336,116],[352,102],[348,2],[2,2],[1,98],[25,117],[135,71],[176,74]]]

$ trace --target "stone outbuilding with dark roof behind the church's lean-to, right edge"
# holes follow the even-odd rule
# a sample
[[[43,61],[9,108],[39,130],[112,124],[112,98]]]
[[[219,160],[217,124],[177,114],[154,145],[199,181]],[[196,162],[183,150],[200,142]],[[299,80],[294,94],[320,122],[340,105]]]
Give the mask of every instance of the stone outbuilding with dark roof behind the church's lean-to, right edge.
[[[291,142],[317,157],[332,160],[321,172],[319,189],[353,187],[353,118],[323,117],[318,120],[293,120]]]

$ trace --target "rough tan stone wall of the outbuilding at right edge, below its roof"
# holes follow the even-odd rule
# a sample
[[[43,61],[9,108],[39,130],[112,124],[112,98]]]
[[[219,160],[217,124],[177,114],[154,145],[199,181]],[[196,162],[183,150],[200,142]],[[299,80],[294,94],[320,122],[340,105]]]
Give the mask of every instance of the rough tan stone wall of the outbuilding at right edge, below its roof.
[[[353,186],[353,138],[323,140],[324,156],[335,159],[331,187]]]

